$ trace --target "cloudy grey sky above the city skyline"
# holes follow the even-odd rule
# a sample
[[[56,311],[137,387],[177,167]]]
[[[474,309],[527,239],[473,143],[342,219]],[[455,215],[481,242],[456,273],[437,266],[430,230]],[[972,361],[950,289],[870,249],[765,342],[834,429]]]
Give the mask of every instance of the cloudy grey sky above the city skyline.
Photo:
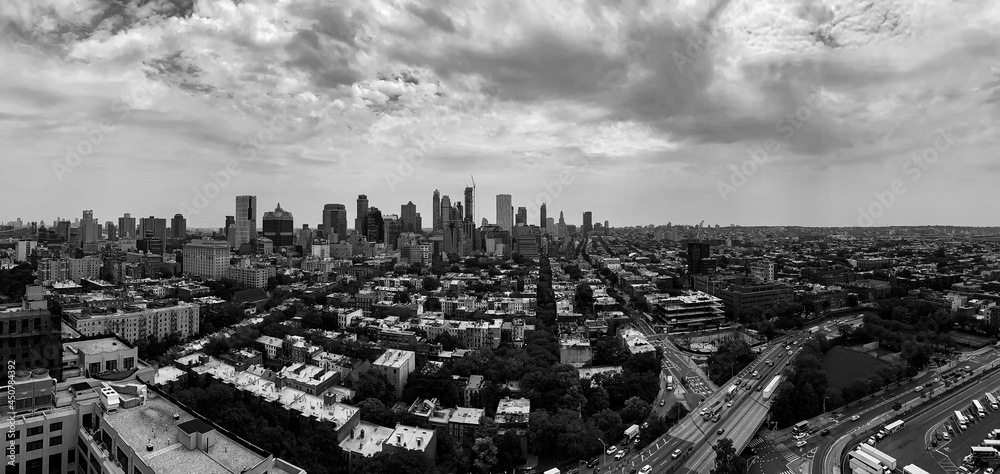
[[[0,221],[429,225],[475,176],[490,221],[998,224],[998,1],[7,0],[0,35]]]

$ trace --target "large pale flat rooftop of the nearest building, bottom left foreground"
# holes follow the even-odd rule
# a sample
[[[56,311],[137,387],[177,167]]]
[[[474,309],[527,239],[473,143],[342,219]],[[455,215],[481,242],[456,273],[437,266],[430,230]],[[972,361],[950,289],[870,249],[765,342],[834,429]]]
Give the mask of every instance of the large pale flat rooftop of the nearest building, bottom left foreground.
[[[174,421],[174,414],[180,419]],[[177,425],[196,418],[160,395],[148,392],[146,403],[119,409],[104,417],[135,453],[156,472],[231,474],[260,464],[265,458],[219,433],[208,453],[188,450],[177,441]],[[146,451],[146,444],[153,451]]]

